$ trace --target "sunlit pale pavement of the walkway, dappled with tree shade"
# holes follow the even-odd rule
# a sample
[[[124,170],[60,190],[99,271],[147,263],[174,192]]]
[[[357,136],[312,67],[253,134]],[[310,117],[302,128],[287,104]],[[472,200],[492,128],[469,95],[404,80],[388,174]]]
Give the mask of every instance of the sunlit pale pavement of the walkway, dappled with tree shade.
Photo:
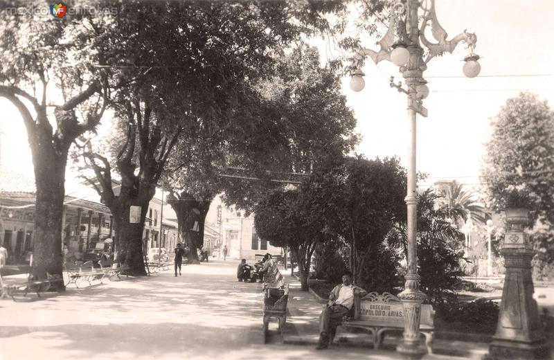
[[[105,280],[104,285],[65,293],[35,294],[0,300],[0,360],[21,359],[398,359],[394,341],[373,350],[369,336],[350,345],[314,350],[321,304],[291,285],[284,343],[277,324],[262,334],[260,283],[238,282],[238,260],[217,260],[149,277]],[[96,283],[96,282],[95,282]],[[80,286],[88,285],[80,282]],[[352,340],[352,339],[350,339]],[[486,345],[437,341],[457,352],[428,354],[425,359],[479,359]],[[454,356],[452,356],[454,355]]]

